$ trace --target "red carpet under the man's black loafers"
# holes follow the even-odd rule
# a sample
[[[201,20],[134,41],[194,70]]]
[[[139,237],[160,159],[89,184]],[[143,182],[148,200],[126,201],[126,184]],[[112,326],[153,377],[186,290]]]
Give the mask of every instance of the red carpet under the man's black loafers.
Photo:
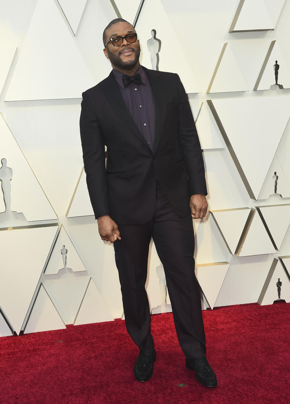
[[[139,351],[122,320],[0,338],[0,403],[290,403],[290,303],[220,307],[203,318],[215,389],[185,368],[172,314],[157,314],[146,383],[134,379]]]

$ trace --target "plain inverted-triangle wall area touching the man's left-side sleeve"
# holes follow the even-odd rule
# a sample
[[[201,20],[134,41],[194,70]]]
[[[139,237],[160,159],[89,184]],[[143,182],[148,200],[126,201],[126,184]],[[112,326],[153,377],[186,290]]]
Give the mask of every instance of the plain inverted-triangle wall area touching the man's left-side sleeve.
[[[83,166],[80,112],[80,100],[18,102],[6,109],[12,133],[58,217],[66,212]]]

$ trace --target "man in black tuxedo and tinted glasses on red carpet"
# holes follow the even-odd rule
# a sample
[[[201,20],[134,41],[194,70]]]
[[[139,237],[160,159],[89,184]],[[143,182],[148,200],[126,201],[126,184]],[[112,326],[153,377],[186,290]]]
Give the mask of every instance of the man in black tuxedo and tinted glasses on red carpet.
[[[215,387],[194,272],[192,218],[205,216],[207,189],[189,101],[177,74],[141,67],[139,40],[127,21],[111,21],[103,42],[113,70],[83,93],[81,141],[99,234],[114,243],[126,328],[140,349],[134,375],[148,380],[156,356],[145,290],[152,237],[186,366]]]

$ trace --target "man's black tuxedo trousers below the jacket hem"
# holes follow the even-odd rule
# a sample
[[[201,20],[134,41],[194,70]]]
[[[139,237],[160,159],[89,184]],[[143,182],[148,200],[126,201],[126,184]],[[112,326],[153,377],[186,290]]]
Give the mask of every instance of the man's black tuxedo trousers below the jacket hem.
[[[126,328],[145,355],[153,352],[150,309],[145,290],[151,237],[164,266],[174,324],[186,358],[205,356],[201,295],[195,277],[195,240],[191,215],[179,217],[156,181],[153,218],[142,225],[119,226],[114,242]]]

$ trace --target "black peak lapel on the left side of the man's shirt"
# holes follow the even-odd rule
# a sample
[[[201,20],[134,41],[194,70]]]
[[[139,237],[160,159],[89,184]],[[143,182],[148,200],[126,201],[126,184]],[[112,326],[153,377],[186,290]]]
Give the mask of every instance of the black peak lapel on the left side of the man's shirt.
[[[115,114],[118,115],[138,137],[138,139],[140,139],[141,142],[144,143],[148,149],[150,149],[125,104],[118,83],[116,82],[112,72],[102,85],[102,92],[114,109]]]

